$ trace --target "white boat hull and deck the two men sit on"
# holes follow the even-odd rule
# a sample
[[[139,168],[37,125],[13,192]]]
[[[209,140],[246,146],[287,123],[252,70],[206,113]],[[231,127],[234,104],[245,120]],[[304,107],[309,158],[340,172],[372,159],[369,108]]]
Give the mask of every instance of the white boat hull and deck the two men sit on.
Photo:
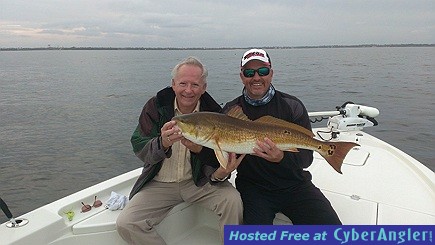
[[[343,174],[317,153],[309,171],[343,224],[435,224],[434,172],[365,132],[341,132],[339,137],[361,145],[347,155]],[[23,227],[1,224],[1,244],[125,244],[115,227],[120,211],[99,207],[81,213],[80,202],[93,202],[97,195],[104,203],[112,191],[128,196],[140,173],[130,171],[29,212],[22,216],[29,221]],[[72,221],[65,215],[70,210],[75,212]],[[277,214],[274,223],[291,221]],[[158,232],[168,244],[220,244],[217,217],[187,203],[175,207]]]

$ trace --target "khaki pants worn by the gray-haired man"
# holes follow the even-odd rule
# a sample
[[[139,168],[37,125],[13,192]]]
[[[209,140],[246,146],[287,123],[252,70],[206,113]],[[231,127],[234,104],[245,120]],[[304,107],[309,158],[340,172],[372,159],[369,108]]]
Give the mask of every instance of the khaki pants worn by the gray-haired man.
[[[197,187],[192,180],[180,183],[151,181],[129,201],[116,221],[119,235],[129,244],[166,244],[155,230],[173,207],[195,203],[219,216],[223,243],[224,225],[241,224],[243,205],[239,192],[224,181]]]

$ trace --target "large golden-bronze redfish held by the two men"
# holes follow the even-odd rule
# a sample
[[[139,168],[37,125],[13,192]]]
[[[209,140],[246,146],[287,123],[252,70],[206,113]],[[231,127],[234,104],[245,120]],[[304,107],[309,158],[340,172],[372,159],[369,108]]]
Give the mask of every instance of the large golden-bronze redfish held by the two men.
[[[174,117],[182,135],[215,151],[222,167],[228,163],[228,152],[252,154],[257,140],[271,139],[282,151],[299,149],[317,151],[339,173],[353,142],[326,142],[314,138],[313,132],[299,125],[264,116],[251,121],[240,107],[232,108],[226,115],[214,112],[196,112]]]

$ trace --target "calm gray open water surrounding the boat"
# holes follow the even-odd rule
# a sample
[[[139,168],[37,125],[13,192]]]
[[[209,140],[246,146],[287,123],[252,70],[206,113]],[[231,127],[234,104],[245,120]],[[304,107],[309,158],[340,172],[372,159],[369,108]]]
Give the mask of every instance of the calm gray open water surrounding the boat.
[[[0,52],[0,197],[19,216],[141,167],[130,136],[172,67],[200,58],[208,91],[225,103],[241,93],[244,51]],[[277,89],[309,111],[378,108],[379,125],[366,131],[435,170],[435,48],[268,51]]]

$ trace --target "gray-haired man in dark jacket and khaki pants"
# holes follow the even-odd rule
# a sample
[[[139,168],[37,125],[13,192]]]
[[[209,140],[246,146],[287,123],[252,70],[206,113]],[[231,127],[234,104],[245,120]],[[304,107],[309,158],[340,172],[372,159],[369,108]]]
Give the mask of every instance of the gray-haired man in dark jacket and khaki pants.
[[[220,167],[213,150],[185,139],[171,121],[175,115],[221,111],[206,92],[206,78],[203,64],[189,57],[174,67],[171,87],[159,91],[142,110],[131,143],[144,168],[116,223],[129,244],[165,244],[155,226],[182,202],[214,211],[222,241],[225,224],[242,222],[240,194],[228,181],[241,158],[231,154],[227,168]]]

